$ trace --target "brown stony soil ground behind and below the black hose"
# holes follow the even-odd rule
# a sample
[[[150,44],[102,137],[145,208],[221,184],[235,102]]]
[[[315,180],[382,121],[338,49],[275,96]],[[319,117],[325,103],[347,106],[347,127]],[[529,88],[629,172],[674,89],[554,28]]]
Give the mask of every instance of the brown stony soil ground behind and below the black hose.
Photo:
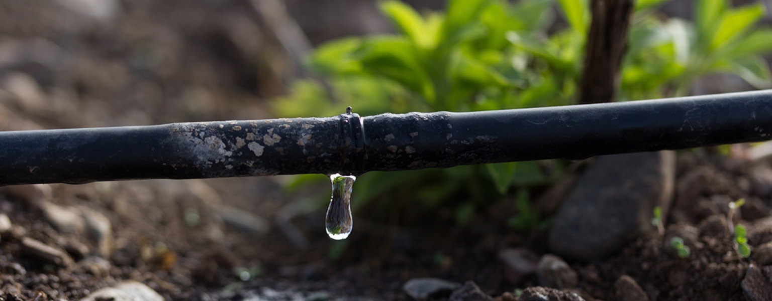
[[[327,22],[378,15],[371,2],[327,2],[351,10]],[[317,32],[312,42],[388,30],[383,20],[314,28],[303,18],[312,2],[287,4]],[[246,0],[2,1],[0,130],[269,118],[265,99],[286,89],[292,69],[254,9]],[[465,225],[450,208],[394,210],[386,222],[355,214],[352,235],[333,241],[319,202],[327,183],[293,192],[288,177],[5,186],[0,300],[772,299],[772,162],[715,149],[679,152],[677,162],[664,233],[603,261],[553,259],[560,290],[540,287],[535,273],[550,258],[549,225],[508,226],[511,198]],[[750,258],[736,252],[730,223],[747,226]],[[510,251],[527,254],[523,273],[499,259]],[[432,293],[403,288],[411,280]]]

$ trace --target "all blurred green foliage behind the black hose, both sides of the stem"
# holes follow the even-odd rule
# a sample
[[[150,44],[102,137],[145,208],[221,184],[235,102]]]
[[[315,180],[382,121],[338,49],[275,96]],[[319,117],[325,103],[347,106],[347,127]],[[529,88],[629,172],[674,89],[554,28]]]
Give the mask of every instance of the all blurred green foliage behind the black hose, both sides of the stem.
[[[699,0],[692,23],[658,15],[661,2],[637,2],[619,100],[686,95],[692,82],[712,72],[740,75],[758,88],[770,85],[760,53],[772,50],[772,29],[754,27],[764,5],[731,8],[724,0]],[[550,29],[554,5],[567,23],[557,30]],[[375,115],[574,103],[591,20],[588,0],[450,0],[444,12],[424,13],[385,1],[381,11],[397,34],[321,45],[307,67],[323,80],[295,82],[289,95],[274,102],[276,115],[337,115],[348,105],[360,115]],[[510,162],[367,172],[357,180],[352,206],[356,211],[385,198],[391,203],[381,205],[386,212],[400,203],[420,211],[454,199],[455,219],[463,223],[517,187],[516,207],[527,212],[510,223],[526,228],[537,222],[538,212],[527,207],[523,189],[554,181],[563,166]],[[294,185],[310,179],[326,178],[300,176]]]

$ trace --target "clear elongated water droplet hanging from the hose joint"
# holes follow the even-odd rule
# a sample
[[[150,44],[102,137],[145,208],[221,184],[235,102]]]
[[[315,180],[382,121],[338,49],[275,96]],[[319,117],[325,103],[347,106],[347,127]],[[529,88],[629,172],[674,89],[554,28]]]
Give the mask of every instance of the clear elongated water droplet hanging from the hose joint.
[[[340,176],[336,173],[330,176],[333,184],[333,196],[330,199],[330,207],[327,207],[327,218],[324,226],[327,235],[331,239],[346,239],[354,226],[351,219],[351,189],[354,187],[356,176]]]

